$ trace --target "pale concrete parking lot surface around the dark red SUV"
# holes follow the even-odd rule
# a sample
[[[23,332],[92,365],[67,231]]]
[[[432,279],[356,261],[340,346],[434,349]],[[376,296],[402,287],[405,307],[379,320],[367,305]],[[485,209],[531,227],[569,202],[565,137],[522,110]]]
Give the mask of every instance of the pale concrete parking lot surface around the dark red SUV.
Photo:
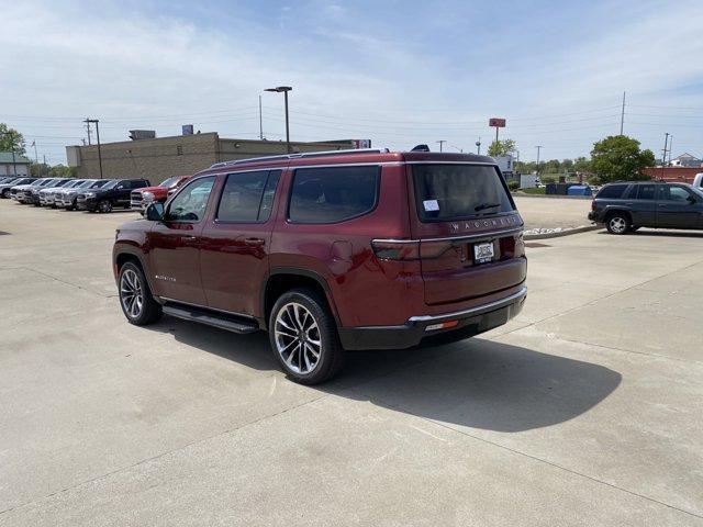
[[[0,201],[0,525],[703,525],[703,235],[532,243],[517,319],[305,388],[127,324],[132,217]]]

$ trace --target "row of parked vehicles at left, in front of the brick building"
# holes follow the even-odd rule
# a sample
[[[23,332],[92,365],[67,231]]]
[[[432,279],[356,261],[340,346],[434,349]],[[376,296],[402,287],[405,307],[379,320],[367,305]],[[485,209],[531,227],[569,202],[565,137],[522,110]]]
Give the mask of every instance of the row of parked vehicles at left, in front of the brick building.
[[[131,208],[131,194],[150,188],[146,179],[4,178],[0,197],[22,204],[111,212]]]

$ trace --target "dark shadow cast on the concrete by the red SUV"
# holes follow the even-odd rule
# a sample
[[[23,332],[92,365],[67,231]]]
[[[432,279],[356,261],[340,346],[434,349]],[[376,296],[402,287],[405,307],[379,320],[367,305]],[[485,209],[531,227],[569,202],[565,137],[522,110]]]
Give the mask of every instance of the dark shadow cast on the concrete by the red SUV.
[[[249,368],[279,370],[263,332],[234,335],[170,317],[149,328]],[[475,337],[420,349],[349,352],[337,379],[311,389],[510,433],[572,419],[607,397],[621,380],[599,365]]]

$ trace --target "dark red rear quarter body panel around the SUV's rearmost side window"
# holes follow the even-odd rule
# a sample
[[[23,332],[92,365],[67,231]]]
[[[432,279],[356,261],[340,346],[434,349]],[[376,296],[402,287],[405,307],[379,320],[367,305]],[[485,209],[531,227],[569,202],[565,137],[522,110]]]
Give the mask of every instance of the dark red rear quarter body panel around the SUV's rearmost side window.
[[[283,173],[277,222],[271,236],[270,269],[298,268],[325,281],[343,326],[404,322],[422,303],[417,273],[403,264],[382,265],[371,239],[410,235],[408,187],[400,164],[383,165],[376,208],[364,216],[335,224],[288,221],[288,197],[294,167]],[[416,289],[420,288],[420,289]],[[416,289],[416,291],[413,291]]]

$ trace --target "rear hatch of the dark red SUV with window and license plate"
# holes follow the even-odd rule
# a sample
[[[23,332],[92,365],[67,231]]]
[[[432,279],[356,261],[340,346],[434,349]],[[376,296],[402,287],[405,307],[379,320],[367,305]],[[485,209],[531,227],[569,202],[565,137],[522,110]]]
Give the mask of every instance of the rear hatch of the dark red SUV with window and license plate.
[[[495,166],[438,160],[408,170],[426,304],[469,301],[525,280],[523,222]]]

